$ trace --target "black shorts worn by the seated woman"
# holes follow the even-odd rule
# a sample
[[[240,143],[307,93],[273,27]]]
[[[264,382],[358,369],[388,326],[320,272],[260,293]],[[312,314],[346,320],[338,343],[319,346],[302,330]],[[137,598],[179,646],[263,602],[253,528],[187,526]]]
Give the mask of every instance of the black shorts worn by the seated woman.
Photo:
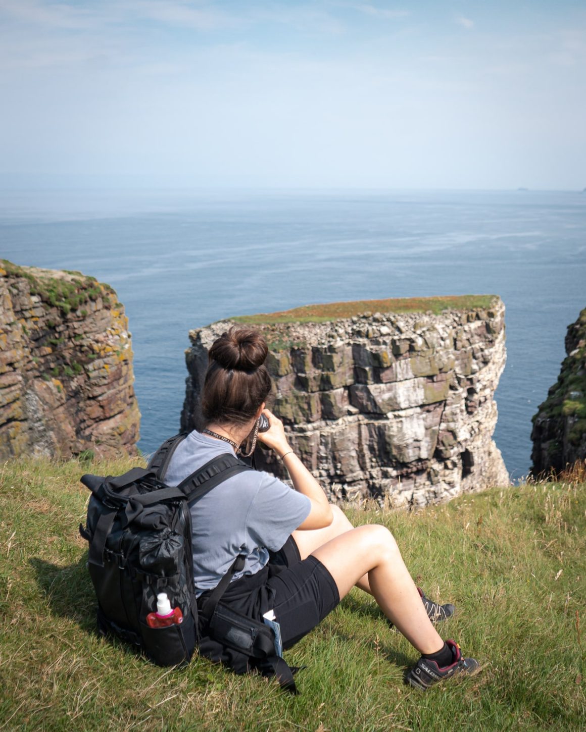
[[[221,602],[261,621],[263,613],[275,610],[287,649],[338,605],[340,595],[322,562],[314,556],[302,561],[297,544],[289,537],[278,552],[271,553],[267,567],[231,582]]]

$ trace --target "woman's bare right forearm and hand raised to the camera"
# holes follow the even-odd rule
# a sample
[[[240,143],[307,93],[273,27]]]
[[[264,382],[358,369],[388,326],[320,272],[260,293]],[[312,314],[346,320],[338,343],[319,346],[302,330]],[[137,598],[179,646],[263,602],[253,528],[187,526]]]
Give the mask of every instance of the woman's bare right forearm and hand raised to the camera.
[[[295,455],[287,441],[281,419],[275,417],[268,409],[264,409],[263,413],[269,420],[270,427],[266,432],[259,432],[259,440],[267,447],[275,450],[289,471],[289,477],[291,477],[295,490],[303,493],[311,501],[311,511],[297,529],[303,531],[304,529],[323,529],[324,526],[330,526],[333,521],[333,512],[322,486],[303,465],[300,458]]]

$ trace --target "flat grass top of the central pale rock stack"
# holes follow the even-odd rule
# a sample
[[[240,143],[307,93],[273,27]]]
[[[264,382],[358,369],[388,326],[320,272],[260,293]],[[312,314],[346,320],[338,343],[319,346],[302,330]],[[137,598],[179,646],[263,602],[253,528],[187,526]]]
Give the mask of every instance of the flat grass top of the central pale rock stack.
[[[257,313],[230,318],[237,323],[253,325],[272,323],[324,323],[364,313],[425,313],[434,315],[444,310],[473,310],[490,307],[494,295],[458,295],[445,297],[395,297],[386,300],[356,300],[355,302],[328,302],[322,305],[303,305],[278,313]]]

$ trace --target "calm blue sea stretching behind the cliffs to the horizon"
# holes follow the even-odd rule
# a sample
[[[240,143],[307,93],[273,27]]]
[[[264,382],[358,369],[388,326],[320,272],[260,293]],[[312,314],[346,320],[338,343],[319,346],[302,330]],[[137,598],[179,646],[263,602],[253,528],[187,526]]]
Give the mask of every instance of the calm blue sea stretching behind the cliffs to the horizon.
[[[586,307],[586,194],[3,193],[0,253],[116,288],[145,452],[179,427],[190,328],[315,302],[499,294],[495,439],[517,479],[566,326]]]

